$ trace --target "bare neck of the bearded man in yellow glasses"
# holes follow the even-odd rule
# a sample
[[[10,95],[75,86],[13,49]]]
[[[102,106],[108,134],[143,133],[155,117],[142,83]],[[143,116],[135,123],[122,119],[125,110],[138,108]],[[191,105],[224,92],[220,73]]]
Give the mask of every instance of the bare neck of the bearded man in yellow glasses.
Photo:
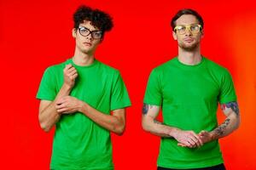
[[[188,51],[179,47],[177,59],[184,65],[199,64],[201,62],[200,47],[192,51]]]

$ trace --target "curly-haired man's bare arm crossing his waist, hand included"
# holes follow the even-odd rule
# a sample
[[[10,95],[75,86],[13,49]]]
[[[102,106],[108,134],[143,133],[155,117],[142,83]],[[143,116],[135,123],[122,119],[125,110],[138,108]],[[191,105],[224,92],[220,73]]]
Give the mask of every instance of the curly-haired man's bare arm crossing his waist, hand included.
[[[112,115],[106,115],[101,111],[97,111],[84,101],[71,96],[59,99],[55,106],[61,114],[69,114],[76,111],[82,112],[93,122],[118,135],[122,135],[125,131],[125,108],[114,110]]]

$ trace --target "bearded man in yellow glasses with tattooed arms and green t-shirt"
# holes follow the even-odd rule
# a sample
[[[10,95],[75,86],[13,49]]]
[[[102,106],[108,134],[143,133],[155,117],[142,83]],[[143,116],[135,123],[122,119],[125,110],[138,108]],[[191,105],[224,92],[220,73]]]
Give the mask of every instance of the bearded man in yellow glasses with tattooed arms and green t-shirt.
[[[201,15],[183,9],[172,18],[174,59],[151,72],[143,105],[143,129],[161,137],[159,170],[224,170],[218,139],[240,124],[229,71],[201,55]],[[218,125],[218,103],[226,119]],[[162,109],[163,122],[155,120]]]

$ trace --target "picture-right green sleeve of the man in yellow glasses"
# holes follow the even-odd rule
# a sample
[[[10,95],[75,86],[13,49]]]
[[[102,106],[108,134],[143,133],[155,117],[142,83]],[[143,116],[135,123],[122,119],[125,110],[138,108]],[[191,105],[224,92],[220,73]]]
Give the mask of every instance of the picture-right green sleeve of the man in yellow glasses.
[[[229,71],[225,71],[221,79],[220,93],[218,95],[220,104],[236,101],[236,91]]]

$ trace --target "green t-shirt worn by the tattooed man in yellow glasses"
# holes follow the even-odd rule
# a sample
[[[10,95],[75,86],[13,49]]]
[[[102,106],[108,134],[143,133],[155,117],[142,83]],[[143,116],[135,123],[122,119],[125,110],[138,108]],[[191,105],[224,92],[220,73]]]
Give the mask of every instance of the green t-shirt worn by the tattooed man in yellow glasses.
[[[150,74],[144,103],[162,107],[164,124],[183,130],[212,131],[218,126],[218,102],[236,101],[229,71],[202,58],[198,65],[183,65],[177,57]],[[211,167],[223,163],[218,140],[201,148],[177,146],[173,138],[161,138],[157,164],[167,168]]]

